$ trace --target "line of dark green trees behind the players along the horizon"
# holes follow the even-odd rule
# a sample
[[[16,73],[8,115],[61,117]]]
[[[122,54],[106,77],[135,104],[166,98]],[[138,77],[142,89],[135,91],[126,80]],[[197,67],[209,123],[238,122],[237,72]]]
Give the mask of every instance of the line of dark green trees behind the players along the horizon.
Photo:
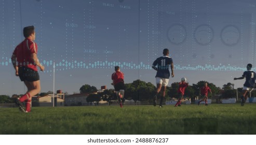
[[[211,98],[214,95],[219,95],[220,98],[236,98],[237,92],[238,96],[241,96],[242,88],[234,89],[234,84],[230,82],[224,84],[222,88],[219,88],[213,83],[207,81],[199,81],[196,84],[193,83],[192,85],[189,84],[185,90],[184,96],[193,100],[193,98],[200,95],[200,88],[204,86],[205,83],[208,83],[208,86],[212,91],[212,94],[209,94],[208,98]],[[127,100],[134,100],[135,104],[137,104],[137,101],[144,101],[147,104],[151,104],[152,98],[156,94],[156,86],[150,82],[145,82],[142,80],[135,80],[132,83],[126,83],[125,87],[125,98]],[[178,88],[179,82],[173,82],[170,86],[167,86],[165,99],[169,100],[171,98],[178,98]],[[93,102],[95,104],[98,104],[99,101],[103,100],[107,101],[107,103],[111,105],[113,101],[117,99],[114,89],[106,89],[100,92],[95,86],[85,84],[80,87],[79,91],[80,93],[89,93],[86,99],[88,103]],[[48,91],[47,93],[37,94],[37,96],[46,96],[49,93],[52,92]],[[68,93],[65,92],[65,94]],[[255,95],[256,91],[252,91],[251,96]],[[14,94],[11,97],[8,95],[0,95],[0,103],[14,103],[15,98],[17,98],[18,96],[22,95]]]

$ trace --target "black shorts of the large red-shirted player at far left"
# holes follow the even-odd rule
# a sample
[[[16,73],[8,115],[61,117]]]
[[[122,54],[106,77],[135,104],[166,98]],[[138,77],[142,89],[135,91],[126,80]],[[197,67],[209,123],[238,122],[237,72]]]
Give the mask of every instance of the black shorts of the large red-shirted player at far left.
[[[21,81],[33,82],[33,81],[38,81],[40,79],[38,71],[35,71],[31,68],[21,66],[19,67],[18,70],[19,70],[19,77]]]

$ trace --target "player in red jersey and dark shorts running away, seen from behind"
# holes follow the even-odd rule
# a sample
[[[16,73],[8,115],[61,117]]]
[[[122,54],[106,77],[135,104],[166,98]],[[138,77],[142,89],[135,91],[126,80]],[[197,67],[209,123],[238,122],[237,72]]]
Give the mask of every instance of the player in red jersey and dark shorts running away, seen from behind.
[[[115,72],[112,74],[111,79],[113,80],[112,85],[114,85],[117,99],[119,101],[119,105],[123,108],[124,105],[124,95],[125,95],[125,82],[124,82],[124,73],[120,71],[119,66],[115,66]]]

